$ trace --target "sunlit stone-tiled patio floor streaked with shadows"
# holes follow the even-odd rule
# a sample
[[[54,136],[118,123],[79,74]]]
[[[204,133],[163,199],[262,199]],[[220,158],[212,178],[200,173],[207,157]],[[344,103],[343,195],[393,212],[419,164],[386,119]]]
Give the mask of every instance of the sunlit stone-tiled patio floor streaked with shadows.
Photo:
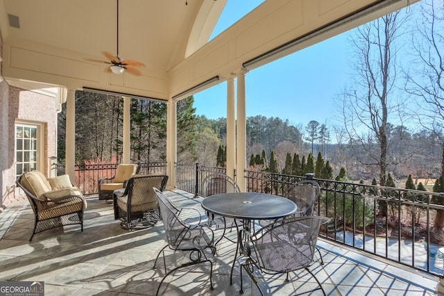
[[[202,199],[181,190],[165,194],[179,206],[193,207],[203,214]],[[126,231],[119,226],[119,220],[114,220],[111,204],[97,197],[89,197],[87,202],[83,232],[78,225],[71,225],[38,233],[33,242],[28,242],[33,227],[28,201],[15,202],[3,211],[0,278],[44,281],[45,295],[155,295],[164,274],[162,262],[160,268],[153,270],[155,256],[166,244],[162,222],[148,229]],[[234,235],[234,231],[230,235]],[[324,265],[316,262],[310,269],[327,295],[436,295],[438,278],[430,274],[359,254],[322,239],[317,245]],[[214,290],[210,290],[210,268],[194,265],[169,276],[160,293],[239,295],[239,267],[234,270],[230,286],[234,247],[226,239],[217,246],[216,256],[212,258]],[[166,258],[168,268],[187,260],[183,254],[172,252]],[[306,274],[300,272],[300,280],[291,283],[284,283],[284,276],[265,277],[260,284],[268,295],[291,295],[297,287],[301,291],[309,290],[316,284]],[[244,277],[244,294],[257,295],[255,286]]]

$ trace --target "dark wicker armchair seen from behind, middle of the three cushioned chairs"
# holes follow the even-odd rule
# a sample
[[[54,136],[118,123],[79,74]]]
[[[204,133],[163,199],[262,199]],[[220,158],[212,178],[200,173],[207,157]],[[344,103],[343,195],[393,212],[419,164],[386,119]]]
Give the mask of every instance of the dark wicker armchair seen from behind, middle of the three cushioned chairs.
[[[125,190],[114,191],[114,219],[121,219],[124,229],[151,227],[160,219],[159,204],[153,187],[164,190],[167,175],[135,175]]]

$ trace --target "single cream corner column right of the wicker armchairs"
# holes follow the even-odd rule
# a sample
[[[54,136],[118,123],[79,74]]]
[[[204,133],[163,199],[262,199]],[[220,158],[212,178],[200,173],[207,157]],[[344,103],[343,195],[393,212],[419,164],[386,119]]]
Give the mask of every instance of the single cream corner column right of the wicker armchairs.
[[[176,161],[177,161],[177,103],[169,101],[167,103],[167,188],[174,188],[176,185]]]

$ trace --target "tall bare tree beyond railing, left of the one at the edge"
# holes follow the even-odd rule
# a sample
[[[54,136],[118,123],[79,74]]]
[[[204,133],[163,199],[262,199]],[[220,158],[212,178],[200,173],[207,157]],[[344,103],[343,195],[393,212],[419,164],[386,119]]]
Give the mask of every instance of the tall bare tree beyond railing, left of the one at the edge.
[[[395,96],[395,40],[403,33],[403,23],[397,11],[360,26],[350,39],[356,53],[356,75],[353,88],[343,94],[345,129],[365,152],[361,155],[367,159],[361,162],[379,167],[381,186],[388,166],[388,120],[400,110]]]

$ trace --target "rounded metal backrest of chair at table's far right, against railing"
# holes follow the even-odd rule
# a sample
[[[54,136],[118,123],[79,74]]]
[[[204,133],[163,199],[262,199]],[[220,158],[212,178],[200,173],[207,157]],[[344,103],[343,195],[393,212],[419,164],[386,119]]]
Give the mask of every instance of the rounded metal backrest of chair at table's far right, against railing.
[[[309,216],[314,213],[314,204],[321,195],[321,187],[312,180],[299,181],[290,186],[285,197],[298,206],[296,216]]]

